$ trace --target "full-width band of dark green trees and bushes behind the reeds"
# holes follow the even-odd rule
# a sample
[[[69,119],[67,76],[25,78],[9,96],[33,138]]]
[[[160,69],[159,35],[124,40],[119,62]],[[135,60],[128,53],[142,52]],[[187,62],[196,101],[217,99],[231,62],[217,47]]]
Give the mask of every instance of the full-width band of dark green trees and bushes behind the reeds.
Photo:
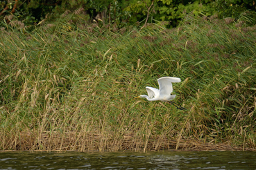
[[[82,9],[77,11],[77,9]],[[159,23],[172,28],[189,13],[196,16],[218,15],[219,19],[239,19],[248,12],[256,19],[256,4],[251,0],[24,0],[0,1],[0,20],[15,24],[20,21],[26,29],[38,23],[56,21],[63,12],[83,12],[91,21],[117,24],[119,28],[135,22]],[[14,23],[13,23],[14,22]],[[40,24],[39,24],[40,25]]]

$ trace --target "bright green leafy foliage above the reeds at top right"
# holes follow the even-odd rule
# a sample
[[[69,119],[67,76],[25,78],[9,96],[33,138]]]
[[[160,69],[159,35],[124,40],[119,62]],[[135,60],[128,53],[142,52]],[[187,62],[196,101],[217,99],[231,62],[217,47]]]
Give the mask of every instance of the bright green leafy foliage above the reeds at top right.
[[[129,1],[124,9],[131,13],[130,21],[142,21],[148,14],[151,1]],[[255,3],[251,1],[154,1],[153,8],[149,11],[149,21],[171,21],[171,26],[178,23],[189,13],[195,16],[210,16],[218,14],[219,17],[233,17],[238,19],[242,12],[251,10],[251,15],[255,17]]]

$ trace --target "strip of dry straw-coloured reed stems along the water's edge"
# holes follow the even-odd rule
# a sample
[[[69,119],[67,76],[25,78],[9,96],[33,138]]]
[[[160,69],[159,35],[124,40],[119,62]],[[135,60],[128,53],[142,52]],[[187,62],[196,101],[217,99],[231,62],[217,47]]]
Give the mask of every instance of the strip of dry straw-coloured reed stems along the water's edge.
[[[37,133],[19,134],[19,136],[23,139],[19,140],[17,147],[5,151],[256,151],[247,144],[232,146],[230,142],[213,143],[194,138],[176,139],[160,135],[151,136],[147,140],[136,138],[133,134],[123,135],[119,140],[116,138],[120,136],[88,134],[81,137],[79,134],[62,135],[56,132],[43,132],[40,137]]]

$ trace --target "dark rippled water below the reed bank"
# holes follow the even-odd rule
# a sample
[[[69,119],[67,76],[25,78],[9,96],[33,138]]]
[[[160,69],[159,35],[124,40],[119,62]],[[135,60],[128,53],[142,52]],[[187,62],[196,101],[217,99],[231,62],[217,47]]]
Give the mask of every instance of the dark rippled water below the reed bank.
[[[256,169],[256,152],[0,152],[0,169]]]

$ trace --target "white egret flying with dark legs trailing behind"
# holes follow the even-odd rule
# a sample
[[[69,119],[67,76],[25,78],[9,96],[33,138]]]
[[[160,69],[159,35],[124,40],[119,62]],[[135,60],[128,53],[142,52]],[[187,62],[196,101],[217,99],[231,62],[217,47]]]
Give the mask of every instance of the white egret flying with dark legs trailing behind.
[[[161,77],[160,79],[157,79],[157,82],[159,84],[159,90],[157,88],[148,87],[146,86],[146,91],[148,92],[148,95],[139,95],[138,97],[144,97],[148,101],[156,101],[160,100],[163,102],[170,102],[176,108],[180,110],[185,110],[186,108],[179,106],[176,104],[176,102],[172,102],[170,100],[173,100],[176,95],[171,95],[173,92],[173,85],[171,83],[178,83],[181,82],[180,78],[178,77]],[[138,98],[135,97],[135,98]]]

